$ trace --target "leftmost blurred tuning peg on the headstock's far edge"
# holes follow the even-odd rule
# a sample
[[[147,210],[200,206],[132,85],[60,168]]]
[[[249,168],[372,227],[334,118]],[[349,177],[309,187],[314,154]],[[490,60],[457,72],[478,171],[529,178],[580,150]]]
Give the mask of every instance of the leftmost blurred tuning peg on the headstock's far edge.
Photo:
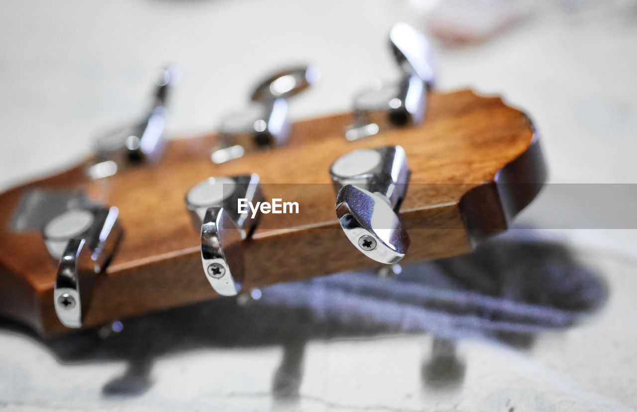
[[[122,167],[156,160],[161,156],[165,145],[166,104],[170,90],[180,78],[181,73],[176,66],[161,69],[148,113],[132,125],[119,127],[97,138],[95,161],[87,171],[90,177],[108,177]]]

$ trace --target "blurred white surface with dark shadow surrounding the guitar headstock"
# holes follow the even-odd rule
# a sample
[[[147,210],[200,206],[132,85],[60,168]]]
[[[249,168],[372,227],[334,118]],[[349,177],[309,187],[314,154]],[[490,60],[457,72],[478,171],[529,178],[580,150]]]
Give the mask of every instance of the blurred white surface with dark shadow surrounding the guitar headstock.
[[[255,80],[295,63],[315,64],[322,77],[292,102],[292,117],[348,110],[371,80],[396,77],[387,34],[398,21],[432,39],[438,89],[498,94],[534,119],[551,183],[637,183],[634,0],[28,0],[0,13],[0,189],[89,155],[99,132],[145,110],[150,82],[168,62],[183,76],[169,107],[171,137],[214,131],[222,115],[245,106]],[[586,206],[562,200],[562,213]],[[632,213],[632,200],[622,210]],[[543,227],[540,206],[520,227]],[[442,288],[531,305],[512,311],[478,299],[459,323],[436,318],[458,316],[445,305],[412,313],[398,289],[381,299],[389,307],[357,304],[369,296],[346,280],[355,276],[341,276],[274,288],[269,298],[264,290],[259,303],[228,309],[233,317],[205,339],[192,335],[197,325],[171,328],[236,302],[151,316],[108,343],[82,334],[43,342],[6,325],[0,410],[631,410],[637,234],[613,228],[517,229],[469,260],[412,270],[438,273],[428,283],[407,270],[402,281],[420,282],[424,301]],[[518,254],[545,243],[554,246]],[[509,260],[505,247],[513,248]],[[515,270],[513,257],[524,262]],[[520,271],[559,287],[485,287],[520,289]],[[484,273],[482,283],[468,283],[474,272]],[[292,299],[334,288],[354,299],[342,311],[334,308],[345,297],[320,307]],[[448,299],[457,308],[466,295]],[[393,315],[378,318],[381,307]],[[262,313],[263,330],[255,320]],[[263,327],[281,316],[288,329]],[[262,333],[233,340],[224,332],[233,321]],[[503,323],[533,327],[503,337],[512,329]],[[164,329],[185,344],[158,337],[151,350],[148,336]]]

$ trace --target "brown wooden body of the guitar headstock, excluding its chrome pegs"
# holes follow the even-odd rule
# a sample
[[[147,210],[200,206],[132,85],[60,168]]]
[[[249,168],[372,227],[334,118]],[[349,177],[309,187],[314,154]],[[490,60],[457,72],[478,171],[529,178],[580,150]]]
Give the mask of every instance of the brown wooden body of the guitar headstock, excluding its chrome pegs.
[[[499,97],[433,92],[424,124],[355,142],[343,138],[351,121],[352,114],[343,113],[296,122],[289,145],[222,165],[209,157],[217,135],[173,139],[157,164],[102,180],[87,178],[80,165],[0,195],[0,314],[45,336],[69,331],[55,316],[57,262],[41,234],[8,229],[20,197],[32,188],[81,188],[120,210],[125,235],[106,273],[98,276],[85,318],[94,327],[215,297],[184,204],[187,190],[208,176],[258,173],[266,198],[300,204],[299,215],[262,216],[245,242],[245,288],[375,266],[349,243],[334,215],[328,170],[350,150],[404,147],[412,170],[401,208],[412,239],[406,260],[469,252],[476,241],[505,230],[545,179],[526,115]],[[503,190],[498,180],[514,184]]]

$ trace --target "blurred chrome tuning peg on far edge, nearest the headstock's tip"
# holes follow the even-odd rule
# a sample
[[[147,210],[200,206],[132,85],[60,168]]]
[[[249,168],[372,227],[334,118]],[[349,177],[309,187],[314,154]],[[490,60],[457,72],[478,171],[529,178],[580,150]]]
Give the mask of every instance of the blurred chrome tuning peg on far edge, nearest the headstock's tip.
[[[376,134],[387,123],[402,127],[422,122],[427,90],[435,81],[429,42],[411,25],[397,23],[389,33],[389,45],[400,78],[393,83],[376,82],[354,97],[355,120],[345,132],[348,140]]]

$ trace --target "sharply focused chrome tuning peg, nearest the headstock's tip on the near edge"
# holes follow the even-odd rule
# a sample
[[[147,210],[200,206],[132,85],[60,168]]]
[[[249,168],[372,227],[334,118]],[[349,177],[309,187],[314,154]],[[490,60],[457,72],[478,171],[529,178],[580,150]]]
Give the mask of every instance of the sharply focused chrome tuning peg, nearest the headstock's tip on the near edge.
[[[354,150],[330,167],[341,228],[352,245],[376,262],[394,264],[409,248],[397,215],[409,174],[401,146]]]

